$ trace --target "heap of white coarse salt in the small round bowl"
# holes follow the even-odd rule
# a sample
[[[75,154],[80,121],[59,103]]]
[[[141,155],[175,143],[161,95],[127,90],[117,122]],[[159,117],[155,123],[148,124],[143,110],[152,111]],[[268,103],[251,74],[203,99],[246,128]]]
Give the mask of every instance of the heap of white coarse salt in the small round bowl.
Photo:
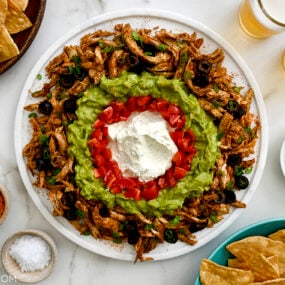
[[[51,250],[46,241],[28,234],[14,241],[9,255],[18,263],[22,272],[42,270],[51,260]]]

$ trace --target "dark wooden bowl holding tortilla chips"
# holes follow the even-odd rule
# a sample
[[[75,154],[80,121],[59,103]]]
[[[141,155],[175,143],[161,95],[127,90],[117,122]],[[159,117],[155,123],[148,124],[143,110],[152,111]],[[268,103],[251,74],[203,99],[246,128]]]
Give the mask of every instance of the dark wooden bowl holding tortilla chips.
[[[31,45],[45,6],[46,0],[0,0],[0,74]]]

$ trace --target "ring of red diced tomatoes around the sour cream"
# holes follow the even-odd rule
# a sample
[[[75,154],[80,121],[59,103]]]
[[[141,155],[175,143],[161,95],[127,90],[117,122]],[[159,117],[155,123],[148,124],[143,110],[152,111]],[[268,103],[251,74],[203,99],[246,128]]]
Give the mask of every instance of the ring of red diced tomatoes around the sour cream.
[[[175,131],[169,132],[172,140],[178,147],[177,153],[172,157],[172,167],[165,175],[149,182],[141,182],[138,178],[123,177],[118,163],[112,160],[112,152],[108,145],[108,127],[117,121],[127,120],[133,111],[158,111]],[[99,114],[93,124],[95,130],[88,142],[94,164],[95,178],[103,178],[105,185],[111,193],[121,193],[123,189],[126,198],[139,201],[141,198],[152,200],[157,198],[159,190],[174,187],[177,181],[191,169],[191,162],[196,153],[196,140],[191,130],[183,131],[186,117],[181,108],[165,99],[152,98],[152,96],[130,97],[126,103],[113,101],[106,109]]]

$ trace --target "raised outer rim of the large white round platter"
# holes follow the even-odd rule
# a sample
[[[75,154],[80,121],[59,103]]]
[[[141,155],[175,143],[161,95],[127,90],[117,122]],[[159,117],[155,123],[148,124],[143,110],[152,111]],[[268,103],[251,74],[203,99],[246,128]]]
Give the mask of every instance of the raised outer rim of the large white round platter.
[[[158,16],[159,15],[159,16]],[[16,153],[16,161],[18,164],[18,169],[22,178],[22,181],[28,191],[28,194],[32,198],[34,204],[37,206],[41,214],[47,219],[47,221],[56,228],[62,235],[64,235],[69,240],[73,241],[77,245],[80,245],[84,247],[85,249],[88,249],[92,252],[95,252],[97,254],[111,257],[119,260],[128,260],[133,261],[135,253],[124,253],[121,250],[111,250],[108,251],[104,246],[97,247],[90,244],[90,241],[88,239],[82,238],[81,236],[78,236],[74,233],[72,233],[68,228],[63,226],[57,219],[55,219],[52,214],[42,206],[41,200],[38,196],[38,194],[35,192],[30,178],[28,171],[26,169],[25,162],[23,160],[22,156],[22,144],[21,139],[19,139],[19,133],[21,133],[21,125],[22,125],[22,113],[23,113],[23,107],[25,105],[25,100],[27,97],[27,94],[29,92],[29,89],[31,87],[31,83],[35,80],[38,71],[43,66],[43,63],[46,61],[47,58],[50,58],[50,56],[54,53],[54,51],[62,46],[68,39],[75,36],[80,31],[91,27],[96,26],[100,24],[101,22],[106,21],[112,21],[114,19],[122,19],[122,18],[128,18],[128,17],[150,17],[152,18],[159,18],[166,21],[174,21],[181,25],[186,25],[191,28],[194,28],[197,30],[197,32],[202,32],[206,34],[207,36],[211,37],[215,40],[215,42],[223,48],[224,51],[229,53],[232,56],[232,59],[236,62],[238,67],[242,70],[244,73],[246,79],[248,82],[250,82],[251,87],[254,89],[255,92],[255,98],[256,98],[256,104],[258,108],[258,113],[260,116],[262,129],[260,134],[260,149],[262,151],[259,153],[259,157],[257,160],[257,164],[255,166],[255,175],[251,181],[250,184],[250,193],[248,193],[245,198],[243,199],[243,202],[248,204],[250,199],[252,198],[255,190],[257,189],[257,186],[260,182],[260,179],[262,177],[262,173],[265,167],[266,157],[267,157],[267,149],[268,149],[268,126],[267,126],[267,116],[265,111],[265,106],[262,98],[261,91],[259,89],[259,86],[253,77],[253,74],[251,73],[250,69],[248,68],[245,61],[242,59],[242,57],[234,50],[234,48],[228,44],[221,36],[219,36],[216,32],[211,30],[210,28],[206,27],[200,22],[197,22],[193,19],[190,19],[186,16],[176,14],[173,12],[165,11],[165,10],[156,10],[156,9],[124,9],[119,10],[115,12],[105,13],[96,17],[93,17],[83,24],[78,25],[74,29],[72,29],[70,32],[66,33],[63,37],[61,37],[59,40],[57,40],[53,45],[51,45],[47,51],[40,57],[38,62],[35,64],[33,69],[31,70],[26,83],[23,87],[22,93],[19,98],[18,106],[16,109],[16,115],[15,115],[15,122],[14,122],[14,147],[15,147],[15,153]],[[217,229],[210,230],[210,232],[207,234],[206,238],[203,240],[198,239],[198,243],[195,246],[189,246],[185,245],[180,248],[175,249],[175,245],[169,245],[169,248],[163,252],[163,253],[155,253],[155,251],[151,252],[150,256],[153,257],[154,260],[163,260],[163,259],[169,259],[173,257],[180,256],[182,254],[186,254],[188,252],[191,252],[193,250],[198,249],[199,247],[203,246],[216,236],[218,236],[222,231],[224,231],[228,226],[230,226],[233,221],[238,217],[242,209],[234,209],[233,212],[230,214],[230,217],[226,218],[222,222],[218,223]],[[171,249],[172,247],[172,249]]]

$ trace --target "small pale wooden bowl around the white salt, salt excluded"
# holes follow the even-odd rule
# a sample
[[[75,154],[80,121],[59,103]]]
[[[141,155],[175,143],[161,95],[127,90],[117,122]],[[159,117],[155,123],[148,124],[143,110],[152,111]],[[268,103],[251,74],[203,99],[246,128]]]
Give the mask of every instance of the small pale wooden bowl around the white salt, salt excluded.
[[[41,237],[50,247],[51,260],[44,269],[23,272],[21,271],[19,264],[10,256],[9,254],[10,247],[12,246],[12,244],[14,243],[16,239],[24,235]],[[57,250],[56,250],[56,245],[53,239],[46,233],[39,231],[39,230],[23,230],[23,231],[13,234],[11,237],[9,237],[5,241],[2,247],[2,251],[1,251],[2,264],[6,272],[10,276],[13,276],[15,280],[18,280],[24,283],[36,283],[36,282],[46,279],[52,273],[54,269],[56,256],[57,256]]]

